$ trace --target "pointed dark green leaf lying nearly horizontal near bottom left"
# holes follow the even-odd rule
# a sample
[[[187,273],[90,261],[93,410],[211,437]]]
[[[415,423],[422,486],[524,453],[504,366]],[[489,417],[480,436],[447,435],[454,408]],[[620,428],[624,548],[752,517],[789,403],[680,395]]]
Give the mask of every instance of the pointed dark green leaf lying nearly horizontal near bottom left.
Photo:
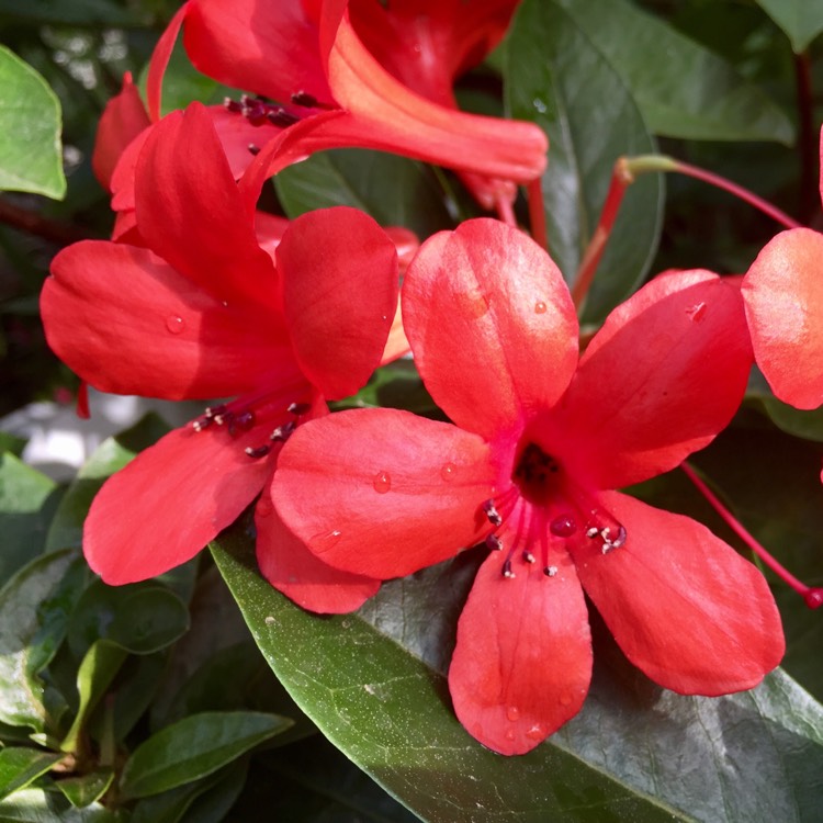
[[[203,712],[144,741],[123,767],[123,796],[143,798],[198,780],[292,725],[261,712]]]

